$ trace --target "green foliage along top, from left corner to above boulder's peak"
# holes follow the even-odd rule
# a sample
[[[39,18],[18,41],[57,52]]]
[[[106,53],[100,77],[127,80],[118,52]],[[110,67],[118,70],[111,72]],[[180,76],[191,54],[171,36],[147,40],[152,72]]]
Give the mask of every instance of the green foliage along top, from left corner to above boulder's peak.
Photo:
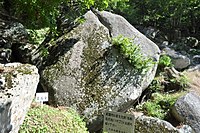
[[[56,19],[60,16],[61,4],[65,10],[79,10],[83,15],[91,6],[105,9],[110,3],[127,0],[1,0],[0,7],[5,7],[10,15],[19,19],[28,28],[54,28]],[[71,8],[75,7],[75,8]],[[70,11],[70,12],[72,12]]]

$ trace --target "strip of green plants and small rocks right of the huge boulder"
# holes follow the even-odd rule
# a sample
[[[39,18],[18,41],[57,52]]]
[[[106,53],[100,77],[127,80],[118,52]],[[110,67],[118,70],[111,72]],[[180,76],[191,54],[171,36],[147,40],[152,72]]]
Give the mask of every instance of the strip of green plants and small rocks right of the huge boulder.
[[[176,71],[170,57],[163,55],[160,57],[154,80],[143,94],[145,99],[136,106],[136,110],[152,117],[169,119],[170,108],[185,93],[187,85],[188,79],[184,73]]]

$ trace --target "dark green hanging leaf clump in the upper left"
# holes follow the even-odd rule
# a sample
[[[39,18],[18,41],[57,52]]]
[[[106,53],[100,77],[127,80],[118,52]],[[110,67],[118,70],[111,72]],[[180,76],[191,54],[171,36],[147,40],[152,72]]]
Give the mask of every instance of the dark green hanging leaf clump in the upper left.
[[[13,0],[11,14],[28,28],[55,27],[59,15],[58,6],[63,0]]]

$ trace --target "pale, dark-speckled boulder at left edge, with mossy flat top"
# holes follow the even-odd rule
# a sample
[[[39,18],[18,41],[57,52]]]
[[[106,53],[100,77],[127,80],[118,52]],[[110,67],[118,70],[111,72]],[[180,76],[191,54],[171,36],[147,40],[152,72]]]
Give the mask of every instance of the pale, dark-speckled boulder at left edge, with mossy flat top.
[[[39,82],[35,66],[0,64],[0,133],[17,133]]]

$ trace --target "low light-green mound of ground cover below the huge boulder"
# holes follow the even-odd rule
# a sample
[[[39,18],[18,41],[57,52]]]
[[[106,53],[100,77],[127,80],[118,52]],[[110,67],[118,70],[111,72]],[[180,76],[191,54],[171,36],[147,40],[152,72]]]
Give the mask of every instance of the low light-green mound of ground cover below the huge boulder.
[[[83,119],[72,109],[33,103],[19,133],[88,133]]]

